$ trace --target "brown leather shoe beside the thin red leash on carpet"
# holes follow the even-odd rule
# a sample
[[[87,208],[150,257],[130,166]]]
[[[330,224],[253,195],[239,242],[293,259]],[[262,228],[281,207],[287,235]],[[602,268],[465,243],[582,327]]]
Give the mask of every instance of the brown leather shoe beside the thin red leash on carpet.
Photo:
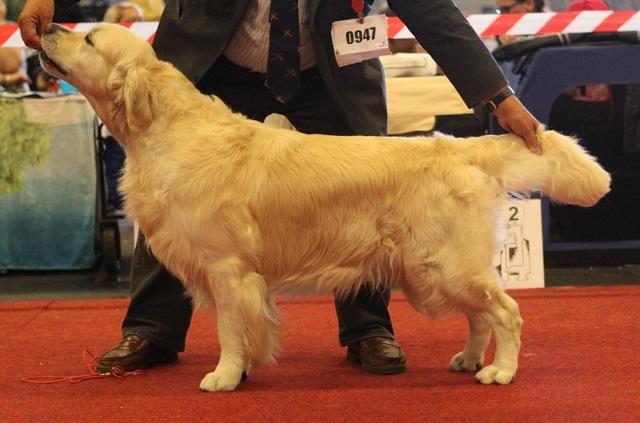
[[[173,363],[178,353],[156,347],[139,335],[126,335],[122,341],[96,359],[98,373],[109,373],[113,368],[126,372]]]

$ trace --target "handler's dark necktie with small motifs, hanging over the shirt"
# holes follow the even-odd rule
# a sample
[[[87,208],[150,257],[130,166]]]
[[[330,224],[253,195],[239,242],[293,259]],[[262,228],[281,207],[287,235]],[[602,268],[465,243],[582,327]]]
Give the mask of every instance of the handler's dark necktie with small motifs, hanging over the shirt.
[[[300,27],[298,0],[271,0],[269,61],[265,85],[280,103],[300,87]]]

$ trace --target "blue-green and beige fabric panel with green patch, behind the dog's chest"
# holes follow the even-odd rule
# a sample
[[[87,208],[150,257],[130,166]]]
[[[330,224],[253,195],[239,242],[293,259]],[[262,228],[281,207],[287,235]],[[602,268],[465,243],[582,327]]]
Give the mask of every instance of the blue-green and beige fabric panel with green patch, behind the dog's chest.
[[[0,97],[0,270],[94,265],[94,116],[79,95]]]

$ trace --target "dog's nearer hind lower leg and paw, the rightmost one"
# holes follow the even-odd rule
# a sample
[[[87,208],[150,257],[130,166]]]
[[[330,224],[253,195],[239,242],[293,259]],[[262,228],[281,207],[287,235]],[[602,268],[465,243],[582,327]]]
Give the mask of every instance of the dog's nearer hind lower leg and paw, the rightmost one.
[[[518,369],[522,318],[518,304],[500,288],[488,292],[486,307],[478,318],[493,329],[496,337],[496,355],[492,364],[478,373],[476,379],[484,384],[510,383]]]

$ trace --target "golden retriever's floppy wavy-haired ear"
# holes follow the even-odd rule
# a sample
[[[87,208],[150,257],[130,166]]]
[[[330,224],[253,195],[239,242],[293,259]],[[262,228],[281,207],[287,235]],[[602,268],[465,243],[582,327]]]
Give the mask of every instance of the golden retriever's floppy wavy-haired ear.
[[[154,117],[151,72],[140,63],[119,63],[109,75],[107,88],[117,119],[133,131],[147,128]]]

